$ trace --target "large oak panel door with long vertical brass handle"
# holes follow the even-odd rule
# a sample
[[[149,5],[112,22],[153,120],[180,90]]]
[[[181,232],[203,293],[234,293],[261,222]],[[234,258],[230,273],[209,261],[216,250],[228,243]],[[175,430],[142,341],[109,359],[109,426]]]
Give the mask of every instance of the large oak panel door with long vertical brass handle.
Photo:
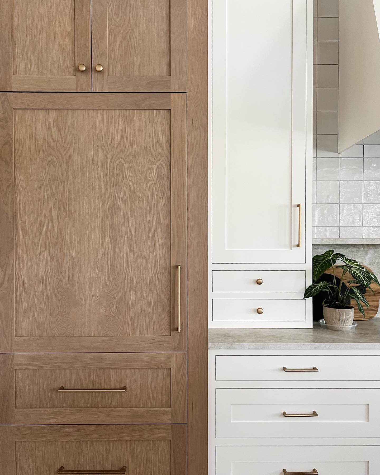
[[[0,98],[0,352],[186,351],[186,95]]]

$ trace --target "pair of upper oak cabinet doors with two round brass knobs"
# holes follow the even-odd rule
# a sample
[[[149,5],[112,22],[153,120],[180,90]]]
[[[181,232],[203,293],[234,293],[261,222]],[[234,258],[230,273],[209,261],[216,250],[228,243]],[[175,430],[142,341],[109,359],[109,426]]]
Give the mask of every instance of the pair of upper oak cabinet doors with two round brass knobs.
[[[186,91],[186,0],[1,6],[1,91]]]

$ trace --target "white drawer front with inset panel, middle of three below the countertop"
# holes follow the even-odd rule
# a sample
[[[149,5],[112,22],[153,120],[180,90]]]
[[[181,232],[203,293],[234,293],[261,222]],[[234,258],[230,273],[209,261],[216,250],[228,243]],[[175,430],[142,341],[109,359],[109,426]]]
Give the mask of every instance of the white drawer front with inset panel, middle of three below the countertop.
[[[380,437],[380,390],[217,389],[216,437]]]

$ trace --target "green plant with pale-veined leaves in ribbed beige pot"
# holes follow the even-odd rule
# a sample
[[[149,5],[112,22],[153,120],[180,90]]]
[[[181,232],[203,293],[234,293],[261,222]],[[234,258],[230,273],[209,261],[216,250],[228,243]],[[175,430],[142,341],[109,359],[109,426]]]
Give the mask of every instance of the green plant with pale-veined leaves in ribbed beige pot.
[[[341,261],[342,264],[335,266],[337,261]],[[328,282],[323,280],[322,276],[330,268],[333,270],[333,279]],[[335,276],[334,269],[342,269],[340,278]],[[351,276],[352,280],[343,285],[346,274]],[[337,326],[352,325],[354,308],[351,306],[351,300],[358,304],[359,311],[365,315],[364,306],[370,308],[370,305],[361,289],[372,290],[370,287],[372,281],[379,285],[378,278],[358,261],[334,253],[332,250],[313,257],[313,280],[313,284],[306,289],[304,298],[326,292],[328,296],[323,301],[324,321],[328,325]]]

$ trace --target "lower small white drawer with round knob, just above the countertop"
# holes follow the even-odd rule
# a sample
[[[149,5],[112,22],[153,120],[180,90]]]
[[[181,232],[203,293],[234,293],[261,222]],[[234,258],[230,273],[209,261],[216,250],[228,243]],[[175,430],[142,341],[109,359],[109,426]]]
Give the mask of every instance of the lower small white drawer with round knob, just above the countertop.
[[[262,309],[262,313],[259,309]],[[214,322],[304,322],[304,300],[213,299]]]

